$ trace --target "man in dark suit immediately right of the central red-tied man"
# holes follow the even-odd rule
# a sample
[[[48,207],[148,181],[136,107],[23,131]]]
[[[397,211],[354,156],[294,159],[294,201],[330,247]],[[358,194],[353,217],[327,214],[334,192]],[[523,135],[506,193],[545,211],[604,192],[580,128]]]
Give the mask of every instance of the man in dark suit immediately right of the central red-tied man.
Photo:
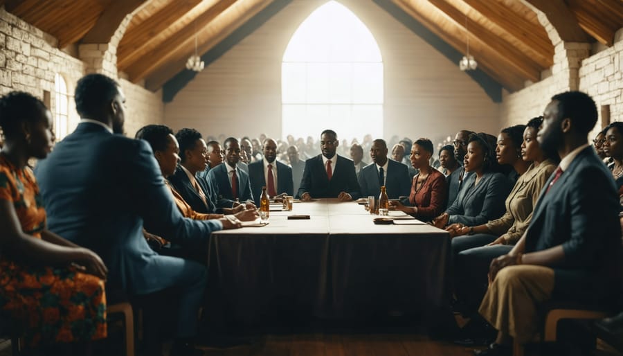
[[[361,195],[378,197],[381,186],[386,186],[387,196],[390,199],[408,197],[411,190],[409,172],[404,164],[387,158],[388,149],[385,140],[372,141],[370,148],[371,164],[361,169],[359,173],[359,187]]]

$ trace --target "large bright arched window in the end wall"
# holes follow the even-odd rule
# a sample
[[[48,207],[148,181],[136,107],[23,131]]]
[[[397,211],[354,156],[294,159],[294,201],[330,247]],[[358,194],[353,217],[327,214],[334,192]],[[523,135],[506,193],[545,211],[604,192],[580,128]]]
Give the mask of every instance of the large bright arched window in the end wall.
[[[383,61],[370,30],[341,3],[317,8],[283,55],[282,136],[383,136]]]

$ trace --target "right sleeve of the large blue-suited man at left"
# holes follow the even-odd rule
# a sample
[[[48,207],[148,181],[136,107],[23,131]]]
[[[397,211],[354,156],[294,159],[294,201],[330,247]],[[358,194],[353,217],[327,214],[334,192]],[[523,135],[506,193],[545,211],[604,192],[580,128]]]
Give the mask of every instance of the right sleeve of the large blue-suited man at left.
[[[183,217],[170,189],[165,186],[150,146],[146,141],[136,142],[138,150],[126,156],[132,166],[127,182],[131,191],[136,192],[136,211],[143,217],[145,229],[179,244],[204,242],[210,233],[223,229],[218,220],[198,221]]]

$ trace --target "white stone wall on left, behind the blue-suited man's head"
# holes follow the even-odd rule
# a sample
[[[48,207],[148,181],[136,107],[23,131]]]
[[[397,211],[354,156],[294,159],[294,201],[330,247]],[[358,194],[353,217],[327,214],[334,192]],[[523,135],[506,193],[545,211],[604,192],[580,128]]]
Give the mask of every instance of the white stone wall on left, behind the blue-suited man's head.
[[[44,91],[49,91],[51,111],[54,112],[54,79],[56,73],[60,73],[67,83],[70,96],[69,132],[73,131],[80,120],[73,103],[75,83],[85,73],[93,71],[117,78],[116,44],[123,36],[128,22],[129,19],[123,21],[111,39],[111,44],[79,46],[80,55],[84,55],[83,60],[80,60],[58,49],[57,39],[51,35],[0,7],[0,95],[20,90],[43,99]],[[134,136],[136,129],[147,123],[163,122],[161,92],[152,93],[126,80],[121,80],[120,85],[127,96],[129,114],[125,125],[128,136]]]

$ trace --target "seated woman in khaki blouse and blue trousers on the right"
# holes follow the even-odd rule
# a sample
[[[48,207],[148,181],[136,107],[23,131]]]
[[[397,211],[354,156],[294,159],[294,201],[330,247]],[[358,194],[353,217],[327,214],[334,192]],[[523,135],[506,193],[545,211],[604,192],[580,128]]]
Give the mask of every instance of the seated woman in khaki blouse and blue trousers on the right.
[[[532,210],[552,172],[558,166],[558,154],[541,150],[536,134],[542,117],[532,118],[523,132],[521,156],[532,165],[519,177],[508,195],[506,213],[497,220],[478,226],[450,226],[455,258],[455,295],[464,303],[464,312],[476,312],[485,294],[487,271],[492,259],[508,253],[527,229]],[[503,152],[503,149],[500,150]],[[467,236],[464,236],[467,235]],[[489,244],[484,247],[483,245]]]

